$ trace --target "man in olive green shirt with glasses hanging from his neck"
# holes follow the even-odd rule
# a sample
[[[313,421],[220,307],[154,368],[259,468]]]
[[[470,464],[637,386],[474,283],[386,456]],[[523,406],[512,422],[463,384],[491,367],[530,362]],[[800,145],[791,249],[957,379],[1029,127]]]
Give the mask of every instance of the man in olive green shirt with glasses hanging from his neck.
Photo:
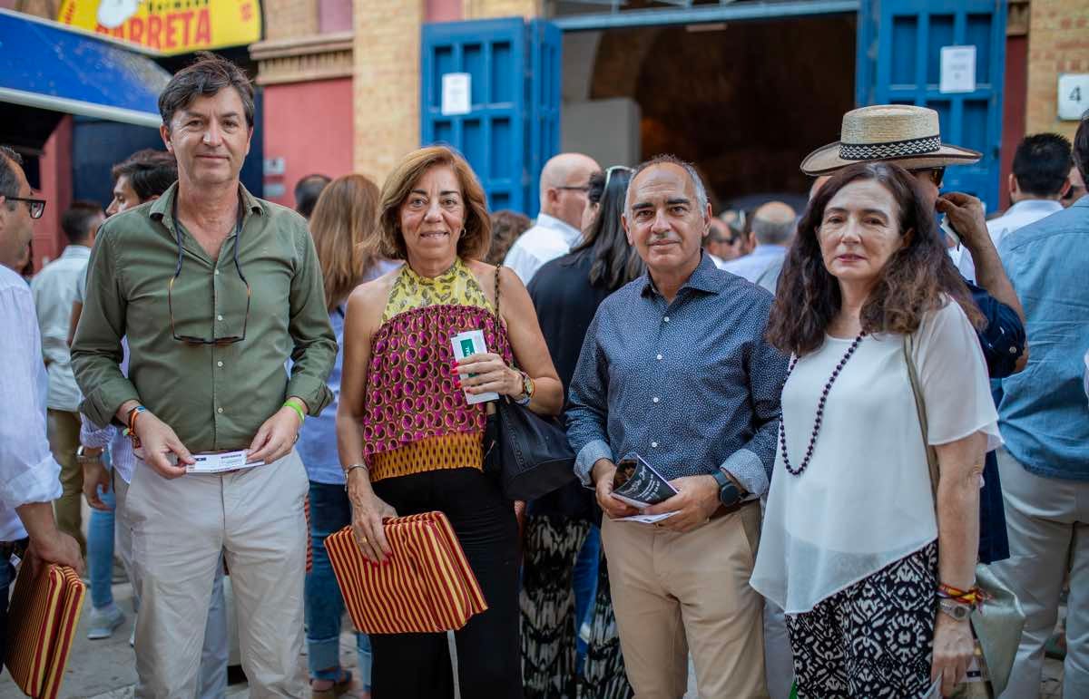
[[[321,272],[303,218],[238,182],[254,124],[242,71],[200,54],[159,110],[179,181],[102,225],[72,346],[83,413],[138,442],[136,697],[194,695],[221,553],[250,692],[299,697],[308,483],[293,445],[331,398]]]

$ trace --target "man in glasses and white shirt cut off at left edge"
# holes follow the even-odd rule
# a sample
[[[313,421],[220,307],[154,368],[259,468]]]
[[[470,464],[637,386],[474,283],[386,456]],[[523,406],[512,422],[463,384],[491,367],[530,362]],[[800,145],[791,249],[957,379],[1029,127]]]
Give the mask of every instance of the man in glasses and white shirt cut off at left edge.
[[[0,146],[0,658],[7,636],[8,588],[14,578],[11,555],[29,544],[42,561],[83,573],[75,539],[53,520],[60,495],[60,466],[46,439],[46,369],[34,298],[13,268],[34,237],[34,218],[45,201],[35,199],[22,158]]]

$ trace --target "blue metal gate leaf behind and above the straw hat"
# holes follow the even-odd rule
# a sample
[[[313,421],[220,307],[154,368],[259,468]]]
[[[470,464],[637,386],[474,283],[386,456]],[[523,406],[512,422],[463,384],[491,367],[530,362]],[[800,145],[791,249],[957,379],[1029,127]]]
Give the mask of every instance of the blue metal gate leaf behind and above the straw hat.
[[[945,188],[999,206],[1005,0],[862,0],[858,13],[856,101],[919,105],[935,110],[942,140],[983,154],[950,168]],[[976,89],[942,93],[941,50],[976,47]]]

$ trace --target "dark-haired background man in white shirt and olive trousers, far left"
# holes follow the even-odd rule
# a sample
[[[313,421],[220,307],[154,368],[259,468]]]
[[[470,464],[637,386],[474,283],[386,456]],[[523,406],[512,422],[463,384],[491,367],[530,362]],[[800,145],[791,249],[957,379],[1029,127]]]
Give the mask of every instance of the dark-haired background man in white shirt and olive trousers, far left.
[[[86,552],[83,537],[83,468],[76,459],[79,447],[79,387],[72,373],[68,331],[72,303],[87,272],[90,246],[106,214],[90,201],[75,201],[61,217],[61,229],[69,245],[56,260],[46,265],[30,282],[34,305],[41,328],[41,354],[49,376],[46,402],[49,446],[61,465],[63,494],[56,503],[57,525],[71,535]]]

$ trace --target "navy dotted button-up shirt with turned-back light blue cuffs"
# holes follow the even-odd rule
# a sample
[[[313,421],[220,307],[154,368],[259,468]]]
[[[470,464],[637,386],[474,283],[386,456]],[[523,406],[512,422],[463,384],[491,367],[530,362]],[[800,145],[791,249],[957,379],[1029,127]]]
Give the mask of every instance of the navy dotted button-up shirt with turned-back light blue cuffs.
[[[609,296],[568,395],[579,479],[590,485],[599,458],[638,453],[668,479],[722,468],[763,494],[787,361],[763,339],[771,302],[707,255],[672,303],[649,273]]]

